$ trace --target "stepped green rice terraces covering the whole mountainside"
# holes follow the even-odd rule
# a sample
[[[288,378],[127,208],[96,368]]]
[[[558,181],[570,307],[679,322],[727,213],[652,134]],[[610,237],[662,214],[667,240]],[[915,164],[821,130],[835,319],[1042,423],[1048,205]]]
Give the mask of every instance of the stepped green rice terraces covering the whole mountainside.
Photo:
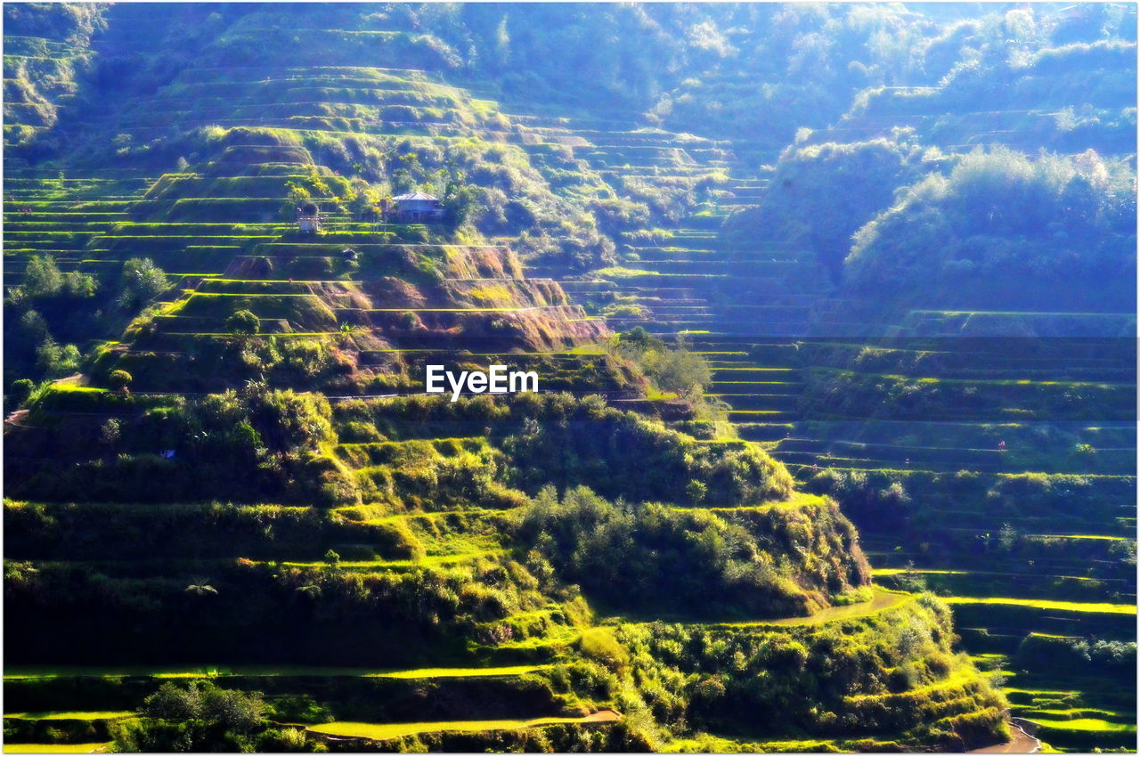
[[[43,255],[100,282],[149,259],[172,286],[116,310],[124,329],[92,315],[85,374],[6,422],[6,751],[104,749],[172,682],[263,692],[283,738],[340,750],[964,749],[1004,730],[986,677],[1053,747],[1134,748],[1134,314],[888,317],[811,250],[725,231],[784,138],[662,124],[700,125],[710,93],[787,96],[727,64],[674,111],[554,107],[479,80],[430,14],[409,31],[329,6],[284,32],[219,13],[169,70],[80,107],[98,56],[162,52],[145,5],[99,13],[93,36],[5,39],[6,292]],[[1113,44],[1062,50],[1097,82],[1081,113],[1026,54],[1025,107],[948,108],[970,96],[947,75],[865,90],[795,145],[1127,154],[1134,87],[1098,55],[1132,48]],[[353,202],[381,185],[448,212],[472,192],[481,215],[385,222]],[[308,202],[319,234],[294,220]],[[715,438],[604,349],[634,326],[707,359]],[[441,363],[568,393],[434,404]],[[577,515],[542,489],[584,483],[605,500]],[[555,564],[575,528],[708,562],[701,587],[739,601],[602,599],[612,561]],[[81,638],[52,643],[75,617]]]

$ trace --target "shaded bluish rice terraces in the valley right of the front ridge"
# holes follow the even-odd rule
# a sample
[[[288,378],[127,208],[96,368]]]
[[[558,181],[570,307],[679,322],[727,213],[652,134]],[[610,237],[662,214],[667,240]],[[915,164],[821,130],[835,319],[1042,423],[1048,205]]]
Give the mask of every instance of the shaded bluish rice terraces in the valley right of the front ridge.
[[[1048,670],[1016,657],[1027,634],[1134,640],[1134,314],[914,310],[876,325],[808,255],[670,231],[563,286],[620,314],[616,327],[687,333],[739,434],[844,502],[882,580],[947,596],[968,650],[1013,658],[994,664],[1016,669],[1011,686]],[[1109,675],[1074,684],[1061,711],[1110,702],[1123,727],[1042,724],[1043,738],[1134,744],[1134,682]]]

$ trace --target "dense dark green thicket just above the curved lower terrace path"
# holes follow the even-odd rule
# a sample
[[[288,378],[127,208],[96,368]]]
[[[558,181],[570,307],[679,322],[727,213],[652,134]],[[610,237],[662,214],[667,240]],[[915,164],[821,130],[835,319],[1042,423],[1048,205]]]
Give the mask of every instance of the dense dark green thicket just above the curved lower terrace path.
[[[523,513],[521,537],[605,607],[701,618],[811,612],[823,599],[804,591],[815,577],[774,548],[804,524],[789,518],[749,526],[707,511],[611,504],[585,487],[560,502],[547,488]],[[863,578],[855,562],[838,568],[849,575],[816,588],[842,591]]]

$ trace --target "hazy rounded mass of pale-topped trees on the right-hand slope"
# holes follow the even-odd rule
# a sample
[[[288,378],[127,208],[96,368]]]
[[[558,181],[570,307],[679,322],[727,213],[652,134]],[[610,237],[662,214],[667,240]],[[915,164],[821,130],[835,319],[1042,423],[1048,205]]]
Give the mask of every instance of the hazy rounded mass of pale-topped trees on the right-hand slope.
[[[928,306],[1129,310],[1135,172],[1093,152],[974,152],[861,228],[853,290]],[[1102,282],[1102,286],[1073,286]]]

